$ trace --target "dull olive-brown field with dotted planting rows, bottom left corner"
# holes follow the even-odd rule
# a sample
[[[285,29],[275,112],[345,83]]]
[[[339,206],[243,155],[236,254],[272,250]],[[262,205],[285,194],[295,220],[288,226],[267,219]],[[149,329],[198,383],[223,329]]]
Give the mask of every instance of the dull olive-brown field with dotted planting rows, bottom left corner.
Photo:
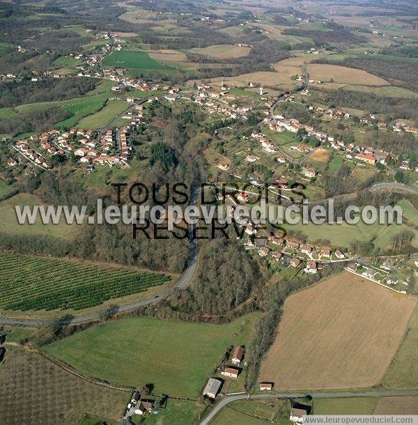
[[[84,413],[117,421],[130,393],[100,387],[36,353],[13,349],[0,364],[4,424],[75,425]],[[18,412],[18,413],[17,413]]]

